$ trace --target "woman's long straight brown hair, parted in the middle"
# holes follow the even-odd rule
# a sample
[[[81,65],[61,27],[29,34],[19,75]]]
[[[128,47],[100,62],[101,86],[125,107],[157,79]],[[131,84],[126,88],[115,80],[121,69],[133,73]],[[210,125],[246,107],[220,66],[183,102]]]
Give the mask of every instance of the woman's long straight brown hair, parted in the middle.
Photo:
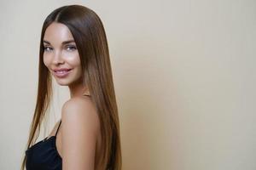
[[[90,8],[81,5],[68,5],[56,8],[44,20],[41,32],[38,97],[29,138],[28,149],[38,139],[41,123],[52,99],[52,79],[44,65],[44,32],[53,22],[64,24],[71,31],[79,51],[83,83],[88,86],[91,99],[101,122],[103,169],[120,170],[122,165],[119,134],[119,114],[116,103],[113,76],[108,52],[108,41],[102,20]],[[25,168],[24,156],[21,170]]]

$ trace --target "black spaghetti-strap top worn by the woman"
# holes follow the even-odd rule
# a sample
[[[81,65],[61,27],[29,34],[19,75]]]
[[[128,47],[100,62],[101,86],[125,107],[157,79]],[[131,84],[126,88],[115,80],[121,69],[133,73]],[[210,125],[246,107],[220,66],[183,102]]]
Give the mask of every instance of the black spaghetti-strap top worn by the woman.
[[[61,170],[62,158],[56,148],[56,135],[46,137],[26,150],[26,170]]]

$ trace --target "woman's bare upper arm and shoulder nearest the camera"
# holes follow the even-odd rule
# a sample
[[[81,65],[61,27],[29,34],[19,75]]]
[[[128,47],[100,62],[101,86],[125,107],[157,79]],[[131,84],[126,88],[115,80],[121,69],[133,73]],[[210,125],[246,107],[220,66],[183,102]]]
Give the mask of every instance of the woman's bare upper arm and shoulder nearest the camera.
[[[62,170],[94,170],[100,122],[90,99],[69,99],[61,109]]]

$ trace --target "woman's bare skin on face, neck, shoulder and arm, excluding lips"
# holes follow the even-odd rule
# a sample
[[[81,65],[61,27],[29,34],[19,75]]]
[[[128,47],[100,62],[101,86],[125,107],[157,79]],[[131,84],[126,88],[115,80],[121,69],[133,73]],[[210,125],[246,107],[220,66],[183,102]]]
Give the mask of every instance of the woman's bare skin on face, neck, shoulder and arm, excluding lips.
[[[101,156],[100,120],[88,88],[83,86],[79,52],[67,26],[52,23],[44,34],[44,65],[61,86],[68,86],[70,99],[61,108],[61,127],[56,137],[56,148],[62,158],[62,170],[94,170]],[[72,69],[67,77],[56,77],[54,69]],[[57,126],[49,136],[55,135]]]

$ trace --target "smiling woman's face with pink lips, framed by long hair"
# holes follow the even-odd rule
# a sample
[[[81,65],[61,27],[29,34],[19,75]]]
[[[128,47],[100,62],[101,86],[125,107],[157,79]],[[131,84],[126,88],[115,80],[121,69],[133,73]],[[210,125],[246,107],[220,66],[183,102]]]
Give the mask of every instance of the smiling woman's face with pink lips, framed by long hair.
[[[81,78],[79,52],[71,32],[61,23],[50,24],[44,33],[44,65],[60,85]]]

